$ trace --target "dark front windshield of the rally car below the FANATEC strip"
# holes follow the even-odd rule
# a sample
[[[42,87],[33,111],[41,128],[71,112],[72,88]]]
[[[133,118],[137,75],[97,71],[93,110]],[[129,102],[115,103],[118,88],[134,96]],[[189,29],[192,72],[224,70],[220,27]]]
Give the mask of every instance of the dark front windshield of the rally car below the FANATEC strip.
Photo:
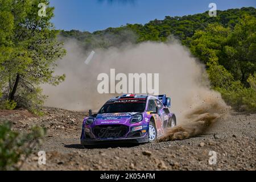
[[[146,100],[139,102],[107,102],[101,107],[98,114],[104,113],[131,113],[143,112],[146,107]]]

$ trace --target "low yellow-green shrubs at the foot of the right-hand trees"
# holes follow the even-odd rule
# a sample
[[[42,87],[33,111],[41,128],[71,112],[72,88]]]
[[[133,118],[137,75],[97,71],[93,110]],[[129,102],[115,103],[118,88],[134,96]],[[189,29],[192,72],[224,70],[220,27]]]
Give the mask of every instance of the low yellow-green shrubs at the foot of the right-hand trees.
[[[246,88],[241,81],[234,80],[232,74],[216,61],[207,65],[213,89],[221,93],[228,105],[237,111],[256,112],[256,73],[247,79],[250,87]]]

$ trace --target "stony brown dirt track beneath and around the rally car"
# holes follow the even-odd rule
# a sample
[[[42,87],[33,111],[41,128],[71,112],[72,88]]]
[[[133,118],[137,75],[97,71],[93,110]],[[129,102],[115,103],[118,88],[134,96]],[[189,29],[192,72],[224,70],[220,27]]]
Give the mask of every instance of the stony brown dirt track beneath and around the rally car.
[[[35,148],[23,170],[255,170],[256,114],[233,113],[218,121],[206,134],[174,142],[141,145],[96,146],[80,143],[85,113],[47,108],[44,117],[26,110],[0,110],[14,129],[27,131],[32,125],[47,128],[43,146]],[[38,164],[37,152],[46,151],[46,165]],[[210,165],[209,152],[217,152]]]

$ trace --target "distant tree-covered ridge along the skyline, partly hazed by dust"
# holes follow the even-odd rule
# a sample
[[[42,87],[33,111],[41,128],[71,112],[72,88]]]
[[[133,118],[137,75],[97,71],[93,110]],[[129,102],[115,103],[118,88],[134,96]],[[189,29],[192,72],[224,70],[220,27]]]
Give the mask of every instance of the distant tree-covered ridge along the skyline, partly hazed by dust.
[[[119,44],[113,44],[112,39],[108,39],[109,32],[114,32],[112,38],[119,39],[118,43],[122,43],[129,39],[122,39],[119,35],[123,30],[131,30],[138,35],[137,43],[144,41],[168,41],[170,35],[181,40],[185,46],[189,46],[192,36],[196,31],[208,27],[209,24],[219,24],[224,28],[233,30],[234,26],[239,22],[244,14],[255,17],[254,7],[242,7],[241,9],[229,9],[225,11],[217,11],[217,17],[210,17],[208,11],[205,13],[185,16],[166,16],[163,20],[152,20],[146,24],[127,24],[118,28],[107,28],[106,30],[90,32],[63,31],[62,35],[68,38],[76,38],[82,44],[86,44],[85,49],[99,47],[118,47]],[[102,38],[98,40],[98,36]],[[106,42],[104,42],[106,41]],[[109,43],[110,42],[110,43]],[[115,41],[116,42],[116,41]]]

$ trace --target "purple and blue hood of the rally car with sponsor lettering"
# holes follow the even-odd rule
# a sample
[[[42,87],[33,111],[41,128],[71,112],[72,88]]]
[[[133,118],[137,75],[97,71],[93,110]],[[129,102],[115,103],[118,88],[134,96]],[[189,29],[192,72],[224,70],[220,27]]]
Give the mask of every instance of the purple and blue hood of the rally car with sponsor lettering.
[[[133,115],[135,114],[138,114],[138,112],[97,114],[94,123],[96,125],[123,124],[129,122],[130,118],[133,117]]]

